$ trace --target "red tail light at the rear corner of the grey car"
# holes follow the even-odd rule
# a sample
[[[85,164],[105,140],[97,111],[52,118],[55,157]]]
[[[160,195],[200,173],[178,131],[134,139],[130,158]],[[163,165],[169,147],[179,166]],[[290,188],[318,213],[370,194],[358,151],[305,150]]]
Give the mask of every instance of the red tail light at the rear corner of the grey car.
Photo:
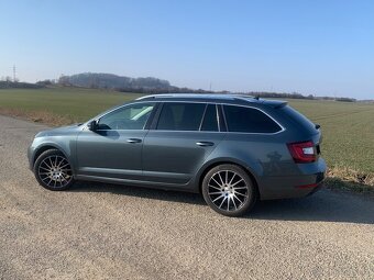
[[[308,164],[317,160],[317,150],[311,141],[287,144],[296,164]]]

